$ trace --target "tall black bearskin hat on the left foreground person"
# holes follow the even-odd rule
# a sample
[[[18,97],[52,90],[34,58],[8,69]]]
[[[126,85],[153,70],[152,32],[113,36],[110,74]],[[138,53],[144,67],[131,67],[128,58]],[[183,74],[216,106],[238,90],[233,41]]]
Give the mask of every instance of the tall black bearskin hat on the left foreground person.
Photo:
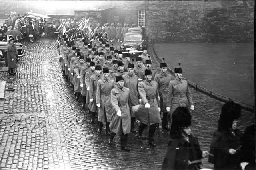
[[[170,116],[170,113],[169,115]],[[170,137],[172,139],[182,137],[182,128],[191,125],[191,114],[186,107],[178,107],[172,113]]]

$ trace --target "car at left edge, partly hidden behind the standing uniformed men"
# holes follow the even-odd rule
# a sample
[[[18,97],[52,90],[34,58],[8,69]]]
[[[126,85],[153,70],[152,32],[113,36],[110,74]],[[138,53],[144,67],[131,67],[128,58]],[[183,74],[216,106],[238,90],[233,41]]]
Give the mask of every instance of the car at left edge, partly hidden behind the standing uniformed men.
[[[14,43],[16,45],[16,49],[18,51],[17,57],[22,57],[25,55],[24,47],[22,43]],[[0,57],[2,59],[6,59],[7,56],[7,41],[0,41]]]

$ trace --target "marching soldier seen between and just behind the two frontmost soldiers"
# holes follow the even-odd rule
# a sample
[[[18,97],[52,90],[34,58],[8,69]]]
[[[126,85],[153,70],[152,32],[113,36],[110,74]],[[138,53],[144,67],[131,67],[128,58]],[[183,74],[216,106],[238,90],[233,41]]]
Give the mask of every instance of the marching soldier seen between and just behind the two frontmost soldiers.
[[[133,59],[132,59],[133,60]],[[134,128],[135,122],[135,113],[132,110],[132,106],[138,105],[139,103],[139,92],[138,92],[138,76],[136,76],[134,72],[134,64],[128,64],[128,73],[123,76],[124,78],[124,86],[130,89],[130,99],[129,99],[129,107],[131,113],[131,132],[136,132]]]

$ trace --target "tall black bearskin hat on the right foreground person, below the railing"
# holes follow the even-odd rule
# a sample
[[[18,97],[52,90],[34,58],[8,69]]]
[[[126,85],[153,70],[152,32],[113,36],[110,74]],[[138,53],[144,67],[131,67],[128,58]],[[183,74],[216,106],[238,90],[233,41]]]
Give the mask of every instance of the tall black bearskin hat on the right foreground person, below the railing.
[[[226,102],[220,113],[218,131],[227,130],[232,127],[233,121],[241,116],[241,106],[233,101]]]

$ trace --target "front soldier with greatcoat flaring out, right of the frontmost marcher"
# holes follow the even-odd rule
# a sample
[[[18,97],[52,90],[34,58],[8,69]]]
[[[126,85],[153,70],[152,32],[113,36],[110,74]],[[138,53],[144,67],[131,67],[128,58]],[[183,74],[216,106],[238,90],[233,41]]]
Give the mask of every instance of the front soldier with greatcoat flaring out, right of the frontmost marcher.
[[[137,137],[141,139],[143,130],[149,126],[148,145],[156,147],[153,137],[156,131],[156,124],[161,121],[158,84],[151,80],[151,70],[145,70],[145,76],[146,80],[138,83],[138,90],[142,100],[138,108],[134,109],[135,116],[140,121]]]

